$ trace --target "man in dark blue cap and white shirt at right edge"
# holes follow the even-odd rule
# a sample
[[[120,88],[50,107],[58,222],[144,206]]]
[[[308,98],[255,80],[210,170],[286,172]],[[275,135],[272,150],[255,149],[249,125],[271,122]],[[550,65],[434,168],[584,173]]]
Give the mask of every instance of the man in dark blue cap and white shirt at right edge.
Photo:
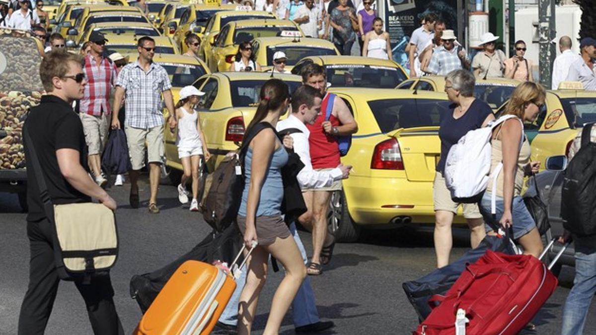
[[[596,39],[582,38],[579,41],[579,48],[582,51],[581,58],[571,63],[566,80],[581,82],[586,91],[596,91],[596,67],[594,66]]]

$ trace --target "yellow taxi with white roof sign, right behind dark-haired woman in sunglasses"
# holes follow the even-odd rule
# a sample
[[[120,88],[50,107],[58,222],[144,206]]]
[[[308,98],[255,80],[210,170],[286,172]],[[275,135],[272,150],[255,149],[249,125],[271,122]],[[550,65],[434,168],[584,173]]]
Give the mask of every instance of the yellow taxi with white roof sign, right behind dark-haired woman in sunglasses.
[[[228,71],[235,61],[234,56],[240,43],[250,42],[255,38],[281,36],[286,32],[296,33],[304,38],[302,30],[289,20],[259,18],[230,22],[219,32],[211,54],[207,57],[207,66],[212,72]]]

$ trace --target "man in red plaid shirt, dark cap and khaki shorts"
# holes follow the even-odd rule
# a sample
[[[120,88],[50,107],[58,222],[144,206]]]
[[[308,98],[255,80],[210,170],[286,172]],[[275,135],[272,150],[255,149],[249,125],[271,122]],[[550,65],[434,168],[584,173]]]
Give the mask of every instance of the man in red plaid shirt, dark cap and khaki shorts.
[[[101,187],[107,183],[101,175],[101,152],[104,150],[108,135],[108,115],[111,113],[110,90],[116,84],[117,77],[113,61],[104,57],[106,41],[107,39],[100,32],[92,32],[89,37],[91,51],[85,56],[85,64],[83,64],[87,85],[79,106],[85,142],[89,148],[89,168],[95,176],[95,182]]]

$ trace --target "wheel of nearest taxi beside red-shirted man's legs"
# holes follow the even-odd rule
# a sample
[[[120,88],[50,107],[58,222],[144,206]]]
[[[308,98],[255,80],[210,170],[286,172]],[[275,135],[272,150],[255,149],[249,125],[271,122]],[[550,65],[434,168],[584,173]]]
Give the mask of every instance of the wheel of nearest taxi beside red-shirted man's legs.
[[[334,191],[329,201],[327,225],[337,242],[354,242],[360,236],[361,228],[352,221],[347,212],[346,197],[343,191]]]

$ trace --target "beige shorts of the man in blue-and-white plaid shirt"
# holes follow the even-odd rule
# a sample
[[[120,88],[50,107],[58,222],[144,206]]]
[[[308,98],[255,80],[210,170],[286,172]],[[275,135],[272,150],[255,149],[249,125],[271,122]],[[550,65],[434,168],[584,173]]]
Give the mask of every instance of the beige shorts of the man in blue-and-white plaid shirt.
[[[133,170],[140,170],[145,166],[145,144],[147,144],[147,162],[160,164],[164,162],[163,126],[149,129],[126,126],[124,131]]]

